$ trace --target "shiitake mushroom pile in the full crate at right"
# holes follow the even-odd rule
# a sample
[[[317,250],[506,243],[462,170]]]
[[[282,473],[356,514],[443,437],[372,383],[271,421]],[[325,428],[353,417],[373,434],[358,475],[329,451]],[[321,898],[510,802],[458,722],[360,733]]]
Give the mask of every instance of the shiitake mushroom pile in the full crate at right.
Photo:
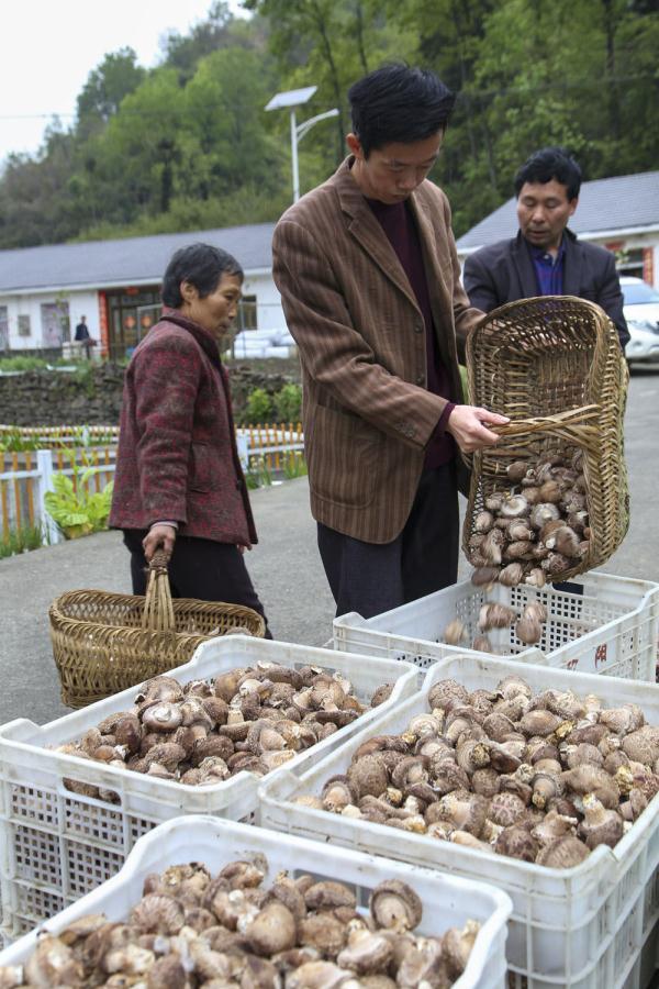
[[[520,676],[471,692],[440,680],[428,704],[297,802],[568,868],[615,846],[659,791],[659,727],[637,704],[534,693]]]

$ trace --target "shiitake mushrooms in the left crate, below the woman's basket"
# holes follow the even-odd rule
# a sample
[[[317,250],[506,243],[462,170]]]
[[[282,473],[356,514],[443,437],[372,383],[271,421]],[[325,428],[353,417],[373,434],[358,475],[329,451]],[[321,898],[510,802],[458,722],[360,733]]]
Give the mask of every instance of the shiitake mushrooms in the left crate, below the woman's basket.
[[[361,703],[339,673],[266,660],[210,680],[179,684],[158,676],[143,685],[130,710],[56,751],[158,779],[212,786],[243,769],[265,776],[382,703],[392,689],[383,684]],[[115,799],[90,784],[65,784],[77,793]]]

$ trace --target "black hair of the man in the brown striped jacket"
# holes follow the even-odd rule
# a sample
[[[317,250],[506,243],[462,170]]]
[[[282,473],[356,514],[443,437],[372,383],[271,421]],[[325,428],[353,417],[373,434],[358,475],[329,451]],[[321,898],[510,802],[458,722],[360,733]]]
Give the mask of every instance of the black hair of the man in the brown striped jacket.
[[[386,144],[412,144],[445,131],[456,95],[434,73],[394,63],[355,82],[348,100],[353,132],[368,158]]]

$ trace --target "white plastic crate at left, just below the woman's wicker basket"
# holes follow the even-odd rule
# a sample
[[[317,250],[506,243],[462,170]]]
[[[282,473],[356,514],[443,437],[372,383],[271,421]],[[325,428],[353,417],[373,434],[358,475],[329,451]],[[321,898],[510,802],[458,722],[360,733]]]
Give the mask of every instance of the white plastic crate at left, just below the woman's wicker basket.
[[[383,708],[409,697],[418,677],[415,667],[401,667],[393,659],[246,635],[203,643],[190,663],[168,676],[185,684],[261,659],[297,668],[311,664],[338,670],[349,677],[362,701],[370,699],[380,684],[395,682],[382,708],[367,711],[291,759],[287,766],[293,773],[306,759],[320,758],[342,745]],[[131,687],[43,727],[25,719],[0,727],[0,900],[7,940],[29,931],[114,875],[137,838],[156,824],[181,813],[212,813],[255,822],[259,778],[253,773],[238,773],[214,786],[194,787],[46,748],[79,738],[108,715],[126,710],[138,689],[138,685]],[[65,779],[112,791],[119,796],[119,803],[74,793]]]

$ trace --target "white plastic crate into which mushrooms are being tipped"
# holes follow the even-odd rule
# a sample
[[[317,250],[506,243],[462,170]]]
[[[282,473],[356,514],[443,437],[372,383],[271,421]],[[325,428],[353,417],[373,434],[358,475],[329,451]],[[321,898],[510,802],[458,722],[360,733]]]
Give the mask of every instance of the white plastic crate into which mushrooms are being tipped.
[[[549,666],[654,681],[659,584],[592,573],[574,578],[570,586],[573,590],[560,591],[551,585],[537,590],[495,584],[487,590],[463,580],[371,619],[356,612],[335,619],[335,648],[405,659],[426,668],[445,656],[465,653],[442,643],[454,619],[465,624],[466,645],[470,645],[485,601],[510,604],[518,612],[528,601],[541,601],[548,619],[537,647],[529,649],[520,642],[512,626],[488,632],[493,652],[505,659],[537,663],[539,649]]]

